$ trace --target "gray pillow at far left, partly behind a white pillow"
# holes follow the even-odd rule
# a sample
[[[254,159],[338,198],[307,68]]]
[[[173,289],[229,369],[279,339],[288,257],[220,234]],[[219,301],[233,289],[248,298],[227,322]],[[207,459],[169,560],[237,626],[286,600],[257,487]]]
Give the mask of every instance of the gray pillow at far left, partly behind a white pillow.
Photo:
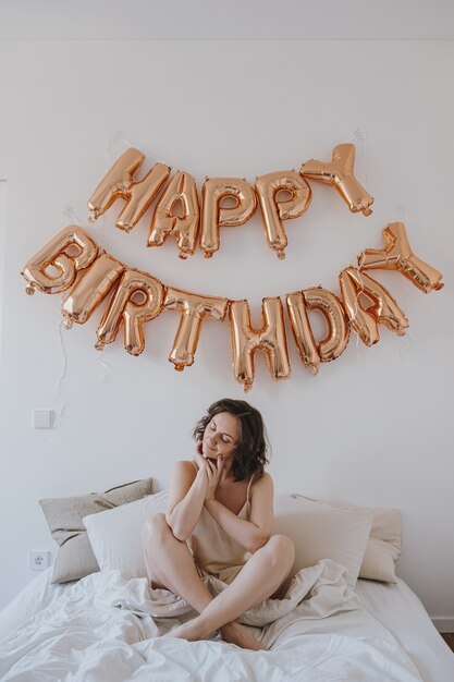
[[[111,488],[106,492],[39,500],[49,529],[59,546],[52,583],[76,581],[99,571],[82,521],[84,516],[134,502],[151,492],[152,478],[145,478]]]

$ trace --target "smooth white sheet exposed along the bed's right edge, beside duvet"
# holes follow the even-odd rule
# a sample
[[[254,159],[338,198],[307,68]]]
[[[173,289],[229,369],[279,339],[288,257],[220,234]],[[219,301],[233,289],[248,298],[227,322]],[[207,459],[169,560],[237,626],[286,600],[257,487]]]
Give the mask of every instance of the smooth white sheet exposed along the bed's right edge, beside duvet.
[[[426,682],[454,682],[454,653],[441,637],[416,594],[402,580],[359,580],[356,593],[407,651]]]

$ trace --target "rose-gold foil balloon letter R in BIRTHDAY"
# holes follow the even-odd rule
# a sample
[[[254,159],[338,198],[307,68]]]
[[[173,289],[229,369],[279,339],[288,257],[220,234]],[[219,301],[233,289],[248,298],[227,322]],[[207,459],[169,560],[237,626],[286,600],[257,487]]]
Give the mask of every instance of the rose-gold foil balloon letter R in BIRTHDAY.
[[[134,296],[142,301],[135,302]],[[102,350],[112,343],[123,321],[124,348],[131,355],[140,355],[145,348],[144,325],[158,317],[163,300],[164,288],[158,279],[138,270],[125,270],[98,327],[96,348]]]

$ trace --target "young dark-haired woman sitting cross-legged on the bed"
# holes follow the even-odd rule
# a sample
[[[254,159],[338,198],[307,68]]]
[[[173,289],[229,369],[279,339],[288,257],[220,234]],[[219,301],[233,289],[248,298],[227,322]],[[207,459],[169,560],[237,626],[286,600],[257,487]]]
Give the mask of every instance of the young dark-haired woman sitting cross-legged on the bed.
[[[275,596],[289,577],[294,546],[271,535],[273,484],[260,413],[242,400],[213,403],[194,430],[194,460],[176,462],[165,514],[143,531],[151,587],[183,597],[199,616],[171,636],[205,640],[220,630],[225,642],[260,649],[236,622],[244,611]],[[203,579],[228,584],[212,597]]]

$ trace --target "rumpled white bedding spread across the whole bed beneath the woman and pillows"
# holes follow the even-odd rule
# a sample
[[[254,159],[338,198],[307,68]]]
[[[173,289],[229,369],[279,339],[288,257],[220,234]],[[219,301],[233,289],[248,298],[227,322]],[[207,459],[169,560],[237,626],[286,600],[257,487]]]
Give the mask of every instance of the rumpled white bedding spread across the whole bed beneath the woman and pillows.
[[[360,580],[357,596],[315,617],[326,588],[320,581],[298,608],[271,623],[269,650],[253,653],[217,641],[157,637],[173,619],[150,617],[145,579],[98,573],[66,585],[50,579],[51,569],[0,612],[0,679],[454,681],[454,654],[402,580]]]

